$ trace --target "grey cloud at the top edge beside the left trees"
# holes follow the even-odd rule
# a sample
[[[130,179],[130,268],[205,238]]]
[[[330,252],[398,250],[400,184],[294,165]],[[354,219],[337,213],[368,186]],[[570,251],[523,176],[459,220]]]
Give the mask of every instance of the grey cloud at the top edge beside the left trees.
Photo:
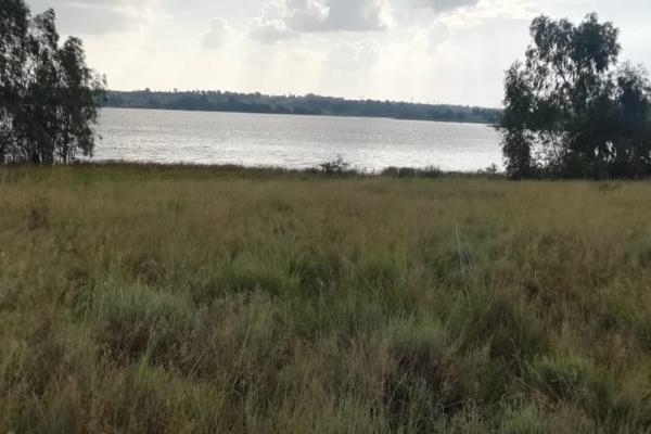
[[[104,35],[146,22],[156,0],[31,0],[28,4],[34,14],[54,8],[63,33]]]

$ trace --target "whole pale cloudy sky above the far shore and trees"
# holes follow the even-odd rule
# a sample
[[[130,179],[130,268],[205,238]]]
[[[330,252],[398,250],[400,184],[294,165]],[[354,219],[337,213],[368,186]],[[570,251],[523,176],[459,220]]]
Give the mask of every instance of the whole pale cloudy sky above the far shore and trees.
[[[501,106],[528,25],[597,12],[651,66],[650,0],[27,0],[115,90],[231,90]]]

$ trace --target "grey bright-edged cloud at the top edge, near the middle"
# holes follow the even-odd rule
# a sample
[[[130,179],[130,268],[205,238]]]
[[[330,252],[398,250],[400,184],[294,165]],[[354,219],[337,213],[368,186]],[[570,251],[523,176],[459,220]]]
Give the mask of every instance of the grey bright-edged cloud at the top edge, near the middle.
[[[387,0],[276,0],[265,3],[250,33],[277,40],[303,33],[382,31],[393,25]]]

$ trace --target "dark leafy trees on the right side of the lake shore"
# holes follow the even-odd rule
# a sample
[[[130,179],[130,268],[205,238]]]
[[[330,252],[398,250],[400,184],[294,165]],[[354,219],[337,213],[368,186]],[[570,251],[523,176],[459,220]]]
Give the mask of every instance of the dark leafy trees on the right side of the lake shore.
[[[578,26],[534,20],[526,62],[506,78],[503,152],[515,178],[651,175],[651,84],[616,67],[618,29],[588,15]]]

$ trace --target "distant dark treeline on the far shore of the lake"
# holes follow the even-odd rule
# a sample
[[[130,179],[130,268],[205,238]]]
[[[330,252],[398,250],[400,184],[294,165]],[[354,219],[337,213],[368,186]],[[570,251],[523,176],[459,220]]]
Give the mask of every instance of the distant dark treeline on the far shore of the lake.
[[[501,110],[461,105],[345,100],[316,94],[304,97],[265,95],[196,90],[187,92],[158,92],[149,89],[131,92],[110,91],[104,105],[120,108],[367,116],[483,124],[498,124],[502,116]]]

